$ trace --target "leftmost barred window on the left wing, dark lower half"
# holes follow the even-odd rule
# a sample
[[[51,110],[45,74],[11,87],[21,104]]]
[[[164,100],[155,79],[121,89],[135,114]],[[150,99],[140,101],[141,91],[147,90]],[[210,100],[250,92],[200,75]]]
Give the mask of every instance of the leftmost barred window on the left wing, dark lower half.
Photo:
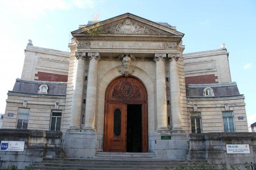
[[[16,129],[27,129],[30,109],[21,108],[18,111],[18,121]]]

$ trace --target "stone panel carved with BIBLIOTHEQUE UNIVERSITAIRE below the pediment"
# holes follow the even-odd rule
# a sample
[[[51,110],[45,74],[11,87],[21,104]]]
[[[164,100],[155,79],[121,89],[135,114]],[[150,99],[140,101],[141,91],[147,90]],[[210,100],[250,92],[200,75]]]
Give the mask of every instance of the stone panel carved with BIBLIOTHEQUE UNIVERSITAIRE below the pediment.
[[[157,42],[106,42],[95,41],[91,43],[91,48],[110,49],[163,49],[163,43]]]

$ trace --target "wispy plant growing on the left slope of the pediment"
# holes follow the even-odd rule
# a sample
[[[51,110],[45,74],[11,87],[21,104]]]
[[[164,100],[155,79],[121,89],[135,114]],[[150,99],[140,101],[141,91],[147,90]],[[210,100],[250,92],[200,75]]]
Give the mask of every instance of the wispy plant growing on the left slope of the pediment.
[[[101,27],[101,24],[100,22],[98,22],[99,20],[99,11],[97,13],[94,13],[93,16],[92,16],[92,20],[93,20],[93,23],[96,23],[94,24],[93,26],[90,26],[90,29],[87,29],[86,27],[83,27],[82,29],[83,30],[86,30],[87,33],[90,34],[90,36],[96,36],[97,34],[103,34],[105,33],[103,30],[102,30],[102,27]]]

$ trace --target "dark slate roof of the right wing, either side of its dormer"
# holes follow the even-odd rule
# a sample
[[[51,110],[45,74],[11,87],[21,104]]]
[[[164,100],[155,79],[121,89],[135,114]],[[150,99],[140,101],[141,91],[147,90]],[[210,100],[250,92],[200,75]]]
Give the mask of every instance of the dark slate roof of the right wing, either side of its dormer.
[[[209,86],[211,87],[211,86]],[[228,86],[228,87],[211,87],[214,92],[214,96],[221,95],[237,95],[240,94],[237,86]],[[186,87],[187,97],[203,97],[204,88],[188,88]]]

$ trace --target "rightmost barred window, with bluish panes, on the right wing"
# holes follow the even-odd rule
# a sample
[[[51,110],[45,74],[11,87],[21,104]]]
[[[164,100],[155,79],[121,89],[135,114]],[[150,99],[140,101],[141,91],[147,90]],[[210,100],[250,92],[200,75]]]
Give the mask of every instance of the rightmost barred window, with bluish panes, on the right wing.
[[[233,112],[222,112],[224,132],[235,132]]]

